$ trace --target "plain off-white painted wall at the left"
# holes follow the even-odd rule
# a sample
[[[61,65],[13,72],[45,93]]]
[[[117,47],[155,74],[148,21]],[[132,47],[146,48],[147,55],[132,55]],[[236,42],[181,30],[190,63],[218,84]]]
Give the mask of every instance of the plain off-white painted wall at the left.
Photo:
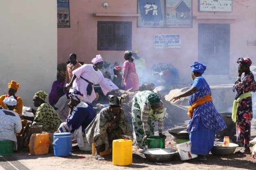
[[[56,0],[0,0],[0,13],[0,95],[15,80],[24,106],[34,107],[35,92],[49,94],[56,80]]]

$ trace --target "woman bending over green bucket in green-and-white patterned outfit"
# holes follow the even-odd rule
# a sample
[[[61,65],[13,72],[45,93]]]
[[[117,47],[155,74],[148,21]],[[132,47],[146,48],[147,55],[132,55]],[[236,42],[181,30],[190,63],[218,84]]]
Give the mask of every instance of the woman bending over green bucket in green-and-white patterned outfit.
[[[154,122],[158,121],[159,136],[162,134],[165,108],[161,98],[154,92],[145,90],[133,97],[132,100],[132,126],[135,143],[139,148],[146,148],[146,139],[154,136]]]

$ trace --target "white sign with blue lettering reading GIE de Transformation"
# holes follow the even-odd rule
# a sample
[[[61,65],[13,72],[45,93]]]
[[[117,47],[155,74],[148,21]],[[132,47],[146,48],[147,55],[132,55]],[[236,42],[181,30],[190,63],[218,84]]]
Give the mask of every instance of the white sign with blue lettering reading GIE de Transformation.
[[[181,47],[180,34],[155,34],[155,49],[177,49]]]

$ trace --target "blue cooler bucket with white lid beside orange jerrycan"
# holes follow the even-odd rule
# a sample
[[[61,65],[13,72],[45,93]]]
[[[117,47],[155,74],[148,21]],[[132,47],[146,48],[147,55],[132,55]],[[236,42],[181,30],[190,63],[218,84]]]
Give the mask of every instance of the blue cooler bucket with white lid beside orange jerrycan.
[[[55,156],[72,155],[72,139],[71,133],[53,134],[53,149]]]

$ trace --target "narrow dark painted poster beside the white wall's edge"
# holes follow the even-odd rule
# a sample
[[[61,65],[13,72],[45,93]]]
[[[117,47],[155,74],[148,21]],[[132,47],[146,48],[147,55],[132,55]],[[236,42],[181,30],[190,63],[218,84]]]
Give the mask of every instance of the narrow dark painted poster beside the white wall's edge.
[[[57,0],[57,25],[58,28],[70,27],[69,0]]]

